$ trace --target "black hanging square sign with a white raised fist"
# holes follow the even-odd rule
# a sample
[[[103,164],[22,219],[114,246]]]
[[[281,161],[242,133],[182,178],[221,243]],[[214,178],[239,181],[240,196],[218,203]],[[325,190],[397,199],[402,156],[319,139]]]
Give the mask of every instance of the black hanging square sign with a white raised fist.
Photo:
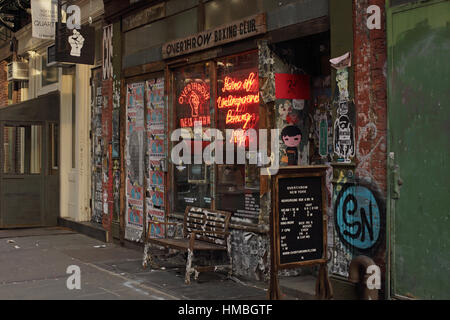
[[[93,65],[95,59],[95,28],[81,26],[68,29],[65,24],[56,28],[56,61]]]

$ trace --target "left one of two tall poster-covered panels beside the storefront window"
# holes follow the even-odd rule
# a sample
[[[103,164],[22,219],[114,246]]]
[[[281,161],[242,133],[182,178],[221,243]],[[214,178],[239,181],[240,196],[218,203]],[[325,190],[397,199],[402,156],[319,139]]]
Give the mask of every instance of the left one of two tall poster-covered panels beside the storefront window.
[[[144,83],[127,86],[125,238],[141,239],[144,227]]]

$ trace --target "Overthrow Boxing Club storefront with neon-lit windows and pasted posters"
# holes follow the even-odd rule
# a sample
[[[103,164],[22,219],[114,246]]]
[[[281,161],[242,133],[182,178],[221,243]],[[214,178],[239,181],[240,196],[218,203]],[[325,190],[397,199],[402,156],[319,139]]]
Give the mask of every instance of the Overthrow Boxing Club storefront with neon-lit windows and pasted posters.
[[[267,159],[325,164],[329,270],[346,279],[356,251],[338,234],[334,208],[355,180],[358,117],[353,66],[336,72],[329,60],[353,52],[352,1],[104,2],[114,43],[107,65],[118,82],[110,96],[120,110],[111,143],[114,154],[119,142],[121,169],[111,197],[116,237],[140,242],[148,221],[180,221],[187,206],[230,211],[233,273],[267,280],[271,178],[261,169]],[[383,232],[378,225],[376,246]]]

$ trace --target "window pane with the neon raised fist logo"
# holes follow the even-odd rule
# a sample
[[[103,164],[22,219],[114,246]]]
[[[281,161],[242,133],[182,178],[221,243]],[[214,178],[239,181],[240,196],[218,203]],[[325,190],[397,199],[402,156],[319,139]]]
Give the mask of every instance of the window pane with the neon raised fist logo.
[[[184,212],[186,206],[211,208],[211,166],[194,163],[195,155],[201,157],[207,141],[203,134],[195,134],[194,126],[201,124],[203,132],[211,126],[211,85],[210,63],[187,66],[174,72],[173,105],[176,114],[176,128],[183,128],[192,140],[188,142],[191,150],[189,161],[174,165],[175,210]],[[194,139],[196,141],[194,141]],[[194,148],[199,143],[200,150]],[[176,144],[176,142],[175,142]],[[185,156],[180,152],[180,156]],[[186,163],[190,162],[190,163]]]

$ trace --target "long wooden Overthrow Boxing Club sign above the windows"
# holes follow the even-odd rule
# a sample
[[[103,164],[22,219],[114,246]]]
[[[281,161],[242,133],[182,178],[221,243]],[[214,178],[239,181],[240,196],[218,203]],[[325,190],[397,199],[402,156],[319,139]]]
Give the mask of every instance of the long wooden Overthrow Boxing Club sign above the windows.
[[[164,59],[173,58],[224,43],[253,37],[267,31],[266,15],[260,13],[215,29],[167,42],[162,46]]]

